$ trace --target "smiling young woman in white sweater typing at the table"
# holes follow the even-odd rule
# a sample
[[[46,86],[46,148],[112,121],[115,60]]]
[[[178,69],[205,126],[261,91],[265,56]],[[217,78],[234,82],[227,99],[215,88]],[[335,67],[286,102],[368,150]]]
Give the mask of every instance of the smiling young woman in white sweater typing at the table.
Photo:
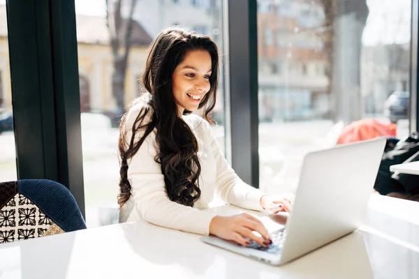
[[[253,216],[200,210],[214,190],[245,209],[277,213],[291,206],[285,197],[247,185],[228,166],[210,126],[218,77],[218,50],[209,37],[179,27],[157,36],[142,77],[148,93],[133,102],[120,126],[119,206],[133,203],[128,220],[268,246],[270,236]],[[205,119],[191,114],[200,108]]]

